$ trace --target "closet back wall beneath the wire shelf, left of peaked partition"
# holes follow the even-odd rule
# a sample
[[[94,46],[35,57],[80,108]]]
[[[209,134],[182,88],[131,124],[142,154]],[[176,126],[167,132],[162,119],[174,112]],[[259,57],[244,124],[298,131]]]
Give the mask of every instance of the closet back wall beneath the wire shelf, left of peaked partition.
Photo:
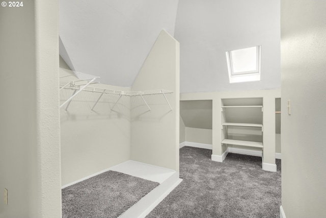
[[[92,87],[130,91],[128,88],[94,84]],[[61,104],[72,90],[60,91]],[[103,171],[130,159],[130,97],[82,91],[60,110],[62,185]]]

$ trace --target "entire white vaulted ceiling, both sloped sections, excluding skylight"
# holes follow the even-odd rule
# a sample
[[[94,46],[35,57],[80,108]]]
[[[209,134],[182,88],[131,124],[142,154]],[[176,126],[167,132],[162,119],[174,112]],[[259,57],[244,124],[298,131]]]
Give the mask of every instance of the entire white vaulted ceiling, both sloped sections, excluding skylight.
[[[60,0],[60,55],[130,87],[161,29],[180,42],[180,92],[275,89],[280,0]],[[225,52],[261,45],[261,81],[230,84]]]

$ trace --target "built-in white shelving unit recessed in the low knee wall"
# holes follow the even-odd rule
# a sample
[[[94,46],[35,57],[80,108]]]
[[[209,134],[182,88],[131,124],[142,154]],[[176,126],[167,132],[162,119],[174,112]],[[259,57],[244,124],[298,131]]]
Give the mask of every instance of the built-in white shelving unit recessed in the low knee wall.
[[[263,149],[263,99],[221,101],[222,146]]]

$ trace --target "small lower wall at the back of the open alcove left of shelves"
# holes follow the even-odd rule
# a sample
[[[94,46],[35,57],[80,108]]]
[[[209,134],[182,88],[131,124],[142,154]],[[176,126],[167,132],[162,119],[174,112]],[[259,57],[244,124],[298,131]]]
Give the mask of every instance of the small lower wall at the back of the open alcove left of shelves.
[[[186,127],[185,141],[212,144],[212,130]]]

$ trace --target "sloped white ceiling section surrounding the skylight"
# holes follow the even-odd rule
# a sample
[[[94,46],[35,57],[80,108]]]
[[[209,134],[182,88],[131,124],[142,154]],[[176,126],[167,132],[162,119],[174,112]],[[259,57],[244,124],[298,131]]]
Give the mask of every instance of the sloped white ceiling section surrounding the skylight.
[[[281,87],[280,0],[179,0],[180,92]],[[226,51],[261,45],[261,81],[230,84]]]

